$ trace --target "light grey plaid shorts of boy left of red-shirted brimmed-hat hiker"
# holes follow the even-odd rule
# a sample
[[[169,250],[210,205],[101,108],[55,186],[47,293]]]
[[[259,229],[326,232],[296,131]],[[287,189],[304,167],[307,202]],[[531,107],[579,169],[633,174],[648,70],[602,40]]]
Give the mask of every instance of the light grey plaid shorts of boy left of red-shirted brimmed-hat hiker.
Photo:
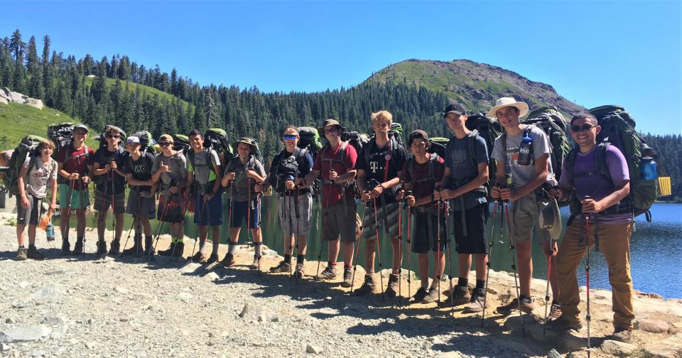
[[[298,207],[298,218],[296,207]],[[312,210],[313,196],[310,192],[305,192],[298,197],[296,194],[279,197],[279,224],[281,224],[283,234],[308,236]]]

